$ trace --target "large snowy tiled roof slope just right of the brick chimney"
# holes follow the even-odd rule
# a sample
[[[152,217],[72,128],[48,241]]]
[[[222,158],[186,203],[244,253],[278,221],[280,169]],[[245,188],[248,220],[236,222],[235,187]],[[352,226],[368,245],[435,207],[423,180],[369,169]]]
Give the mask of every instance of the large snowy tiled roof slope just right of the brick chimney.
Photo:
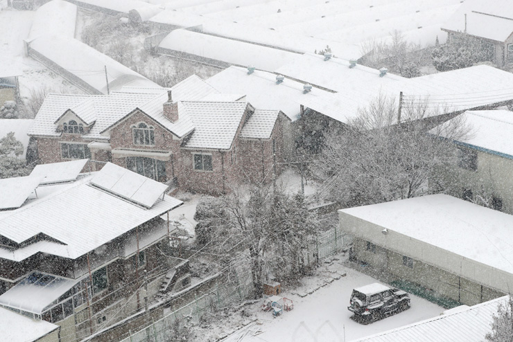
[[[184,147],[229,150],[247,107],[247,102],[239,101],[182,102],[179,113],[189,116],[195,126]]]

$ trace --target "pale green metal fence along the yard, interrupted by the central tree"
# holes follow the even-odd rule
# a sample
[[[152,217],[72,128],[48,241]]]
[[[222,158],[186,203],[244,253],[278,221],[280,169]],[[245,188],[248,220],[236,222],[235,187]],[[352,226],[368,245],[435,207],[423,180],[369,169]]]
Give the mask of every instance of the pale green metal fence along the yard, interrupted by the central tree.
[[[327,258],[342,249],[342,231],[340,227],[332,228],[318,236],[308,249],[308,258],[305,263],[310,266]],[[310,258],[311,255],[311,258]],[[239,278],[239,285],[227,287],[218,285],[216,288],[191,303],[180,307],[164,318],[159,319],[139,330],[120,342],[166,342],[171,339],[174,330],[182,329],[185,324],[198,324],[204,314],[216,312],[218,309],[233,305],[249,298],[253,294],[251,274]]]

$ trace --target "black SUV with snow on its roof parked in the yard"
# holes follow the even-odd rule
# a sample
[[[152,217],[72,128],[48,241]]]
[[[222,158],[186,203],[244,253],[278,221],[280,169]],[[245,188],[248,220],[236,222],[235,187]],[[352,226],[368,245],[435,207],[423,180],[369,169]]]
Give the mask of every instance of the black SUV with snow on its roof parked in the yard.
[[[374,282],[354,289],[349,304],[347,309],[358,318],[376,321],[409,309],[410,296],[400,289]]]

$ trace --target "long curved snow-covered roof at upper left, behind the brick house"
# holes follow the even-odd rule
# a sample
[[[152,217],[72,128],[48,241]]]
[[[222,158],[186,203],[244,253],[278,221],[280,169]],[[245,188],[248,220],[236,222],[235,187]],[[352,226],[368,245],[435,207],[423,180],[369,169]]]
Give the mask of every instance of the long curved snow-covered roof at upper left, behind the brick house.
[[[139,73],[72,37],[43,35],[31,41],[30,48],[89,84],[98,93],[107,93],[105,66],[110,91],[125,86],[159,87]]]

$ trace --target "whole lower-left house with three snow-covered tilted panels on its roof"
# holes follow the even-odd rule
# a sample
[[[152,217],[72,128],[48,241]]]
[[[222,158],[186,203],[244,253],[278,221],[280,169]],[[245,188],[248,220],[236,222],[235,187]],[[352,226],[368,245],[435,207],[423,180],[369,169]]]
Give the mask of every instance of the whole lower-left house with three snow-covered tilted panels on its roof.
[[[161,216],[182,201],[112,163],[79,174],[86,163],[37,165],[28,177],[0,180],[8,194],[0,200],[0,307],[58,326],[62,342],[190,284],[188,262],[162,252],[169,226]]]

